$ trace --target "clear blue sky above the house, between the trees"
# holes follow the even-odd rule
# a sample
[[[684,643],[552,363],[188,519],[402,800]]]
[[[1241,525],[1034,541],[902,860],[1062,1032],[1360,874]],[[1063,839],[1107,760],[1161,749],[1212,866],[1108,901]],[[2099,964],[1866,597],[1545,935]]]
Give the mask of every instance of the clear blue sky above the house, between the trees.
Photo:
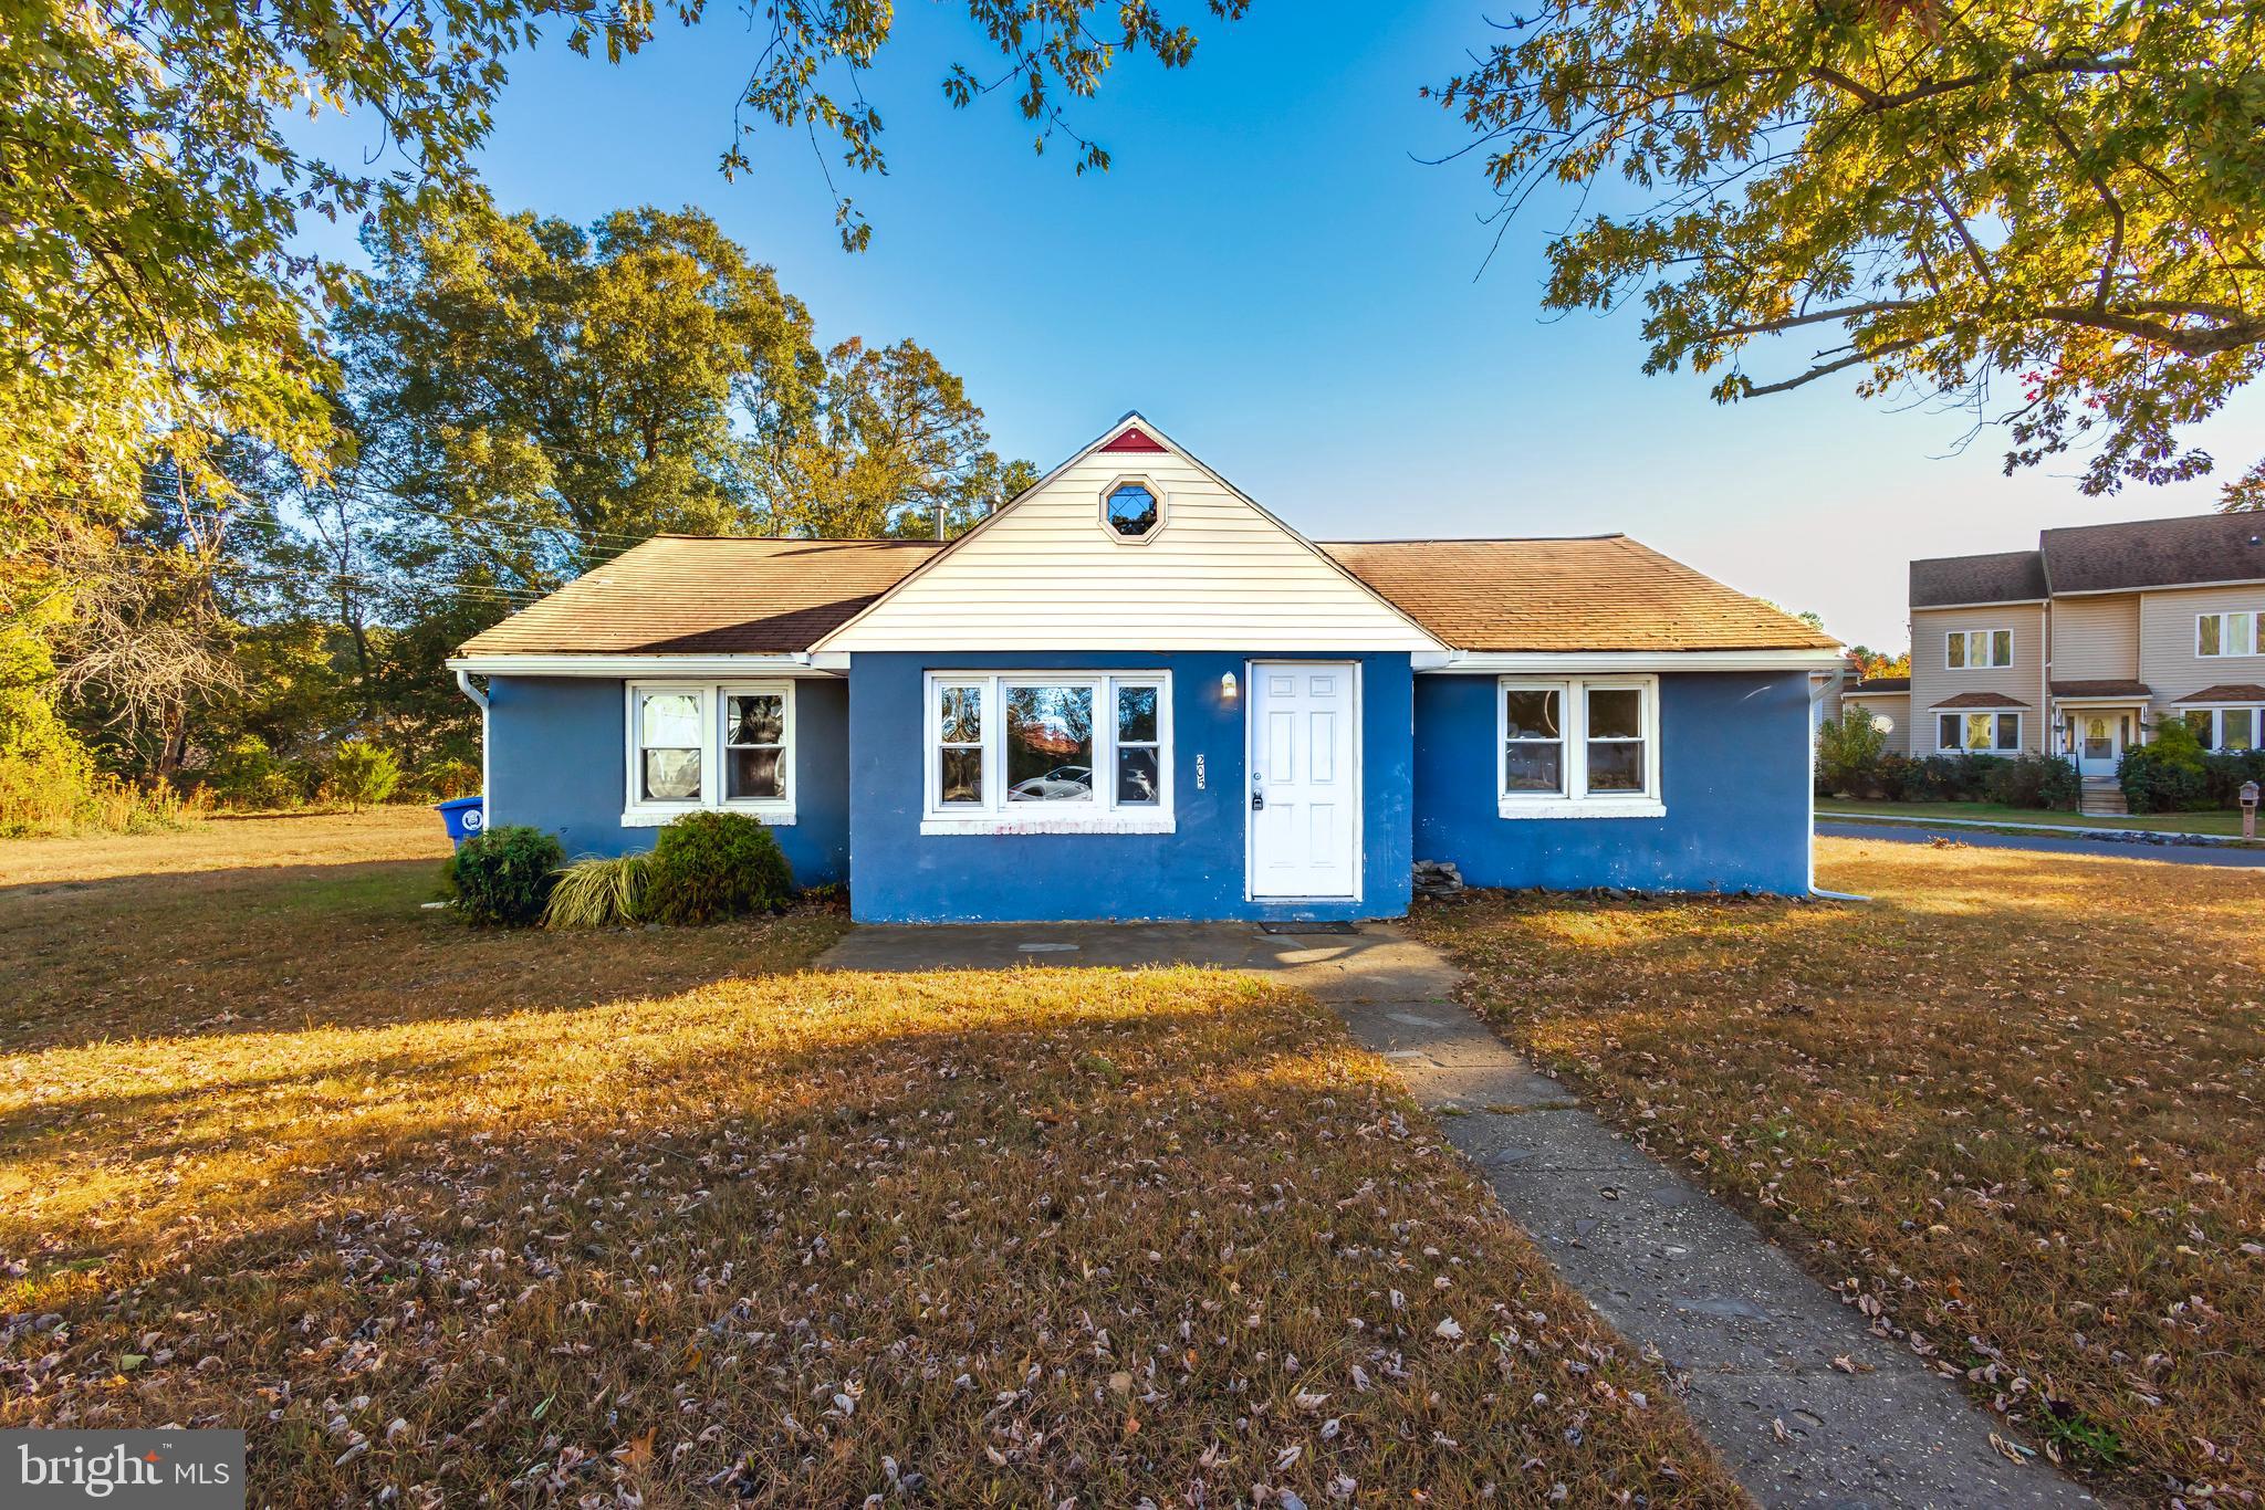
[[[1952,455],[1959,417],[1830,378],[1717,407],[1690,374],[1642,376],[1633,317],[1545,317],[1567,201],[1529,206],[1488,263],[1477,158],[1420,161],[1463,145],[1416,91],[1486,45],[1475,0],[1259,0],[1210,23],[1194,68],[1121,63],[1076,109],[1114,154],[1087,177],[1067,143],[1035,156],[1008,97],[945,104],[947,63],[981,61],[951,0],[899,7],[897,27],[865,86],[890,177],[834,163],[874,222],[861,256],[804,138],[759,136],[736,183],[716,170],[757,52],[732,7],[693,32],[664,20],[621,68],[550,43],[521,57],[482,174],[510,208],[582,222],[702,206],[822,342],[931,346],[1006,455],[1051,466],[1137,407],[1316,539],[1622,530],[1871,645],[1907,638],[1912,557],[2215,503],[2211,482],[2084,498],[2075,466],[2002,478],[1998,437]],[[356,131],[319,138],[351,149]],[[2238,473],[2265,451],[2265,396],[2195,437]]]

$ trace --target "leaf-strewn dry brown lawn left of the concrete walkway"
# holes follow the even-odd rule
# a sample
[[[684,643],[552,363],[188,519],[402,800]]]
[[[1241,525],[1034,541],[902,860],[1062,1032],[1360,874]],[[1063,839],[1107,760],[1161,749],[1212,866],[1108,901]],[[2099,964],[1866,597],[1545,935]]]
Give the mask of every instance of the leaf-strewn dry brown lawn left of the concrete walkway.
[[[0,849],[0,1424],[288,1505],[1740,1501],[1314,1003],[469,933],[412,817]]]

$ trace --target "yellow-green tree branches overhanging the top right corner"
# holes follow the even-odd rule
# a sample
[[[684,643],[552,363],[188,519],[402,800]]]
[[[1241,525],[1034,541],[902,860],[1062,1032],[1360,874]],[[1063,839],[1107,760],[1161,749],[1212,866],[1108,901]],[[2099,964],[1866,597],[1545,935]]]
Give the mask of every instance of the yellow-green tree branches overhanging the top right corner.
[[[1583,188],[1545,303],[1640,301],[1724,403],[1853,374],[2100,494],[2208,471],[2265,367],[2254,2],[1547,0],[1441,95],[1504,220]]]

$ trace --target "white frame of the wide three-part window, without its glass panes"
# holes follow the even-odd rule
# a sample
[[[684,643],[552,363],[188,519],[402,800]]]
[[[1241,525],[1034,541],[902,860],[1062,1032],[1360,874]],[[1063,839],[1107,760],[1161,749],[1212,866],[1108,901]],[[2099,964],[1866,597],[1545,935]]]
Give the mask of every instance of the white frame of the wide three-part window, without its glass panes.
[[[1162,527],[1162,525],[1160,525]],[[1006,688],[1010,686],[1089,686],[1094,688],[1094,792],[1080,801],[1008,801],[1006,799]],[[983,688],[983,801],[942,801],[942,709],[947,686]],[[1117,801],[1117,688],[1153,686],[1155,695],[1155,767],[1157,799],[1153,804]],[[1173,729],[1169,670],[931,670],[920,679],[920,831],[949,833],[1176,833],[1173,810]],[[1148,740],[1135,740],[1146,747]]]

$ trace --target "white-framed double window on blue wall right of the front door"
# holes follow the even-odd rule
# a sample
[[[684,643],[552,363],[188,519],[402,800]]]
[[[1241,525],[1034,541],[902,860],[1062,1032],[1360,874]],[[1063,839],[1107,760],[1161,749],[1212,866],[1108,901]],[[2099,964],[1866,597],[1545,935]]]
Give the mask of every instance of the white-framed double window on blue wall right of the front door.
[[[1658,677],[1504,677],[1495,688],[1502,817],[1658,817]]]

